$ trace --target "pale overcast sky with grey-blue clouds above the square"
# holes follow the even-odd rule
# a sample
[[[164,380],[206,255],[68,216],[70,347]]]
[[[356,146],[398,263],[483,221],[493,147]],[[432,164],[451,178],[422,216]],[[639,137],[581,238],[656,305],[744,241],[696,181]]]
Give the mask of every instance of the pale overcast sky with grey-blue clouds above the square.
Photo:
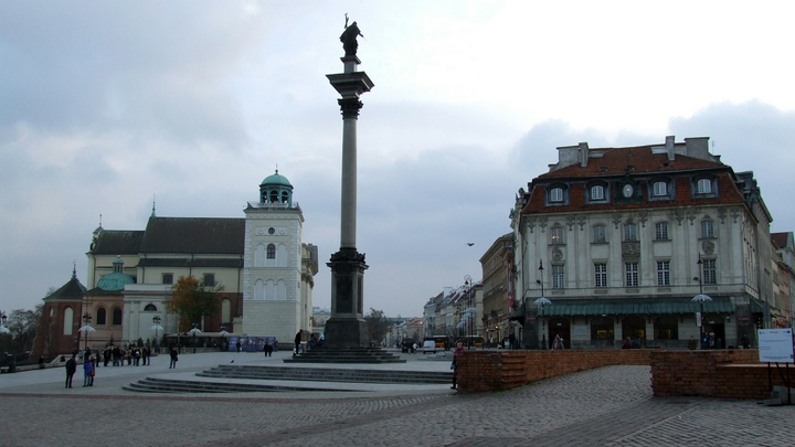
[[[0,2],[0,310],[72,275],[92,231],[244,217],[278,164],[304,241],[339,248],[344,13],[375,86],[358,123],[364,306],[421,316],[510,232],[559,146],[711,137],[795,230],[792,2]],[[467,243],[474,243],[468,246]]]

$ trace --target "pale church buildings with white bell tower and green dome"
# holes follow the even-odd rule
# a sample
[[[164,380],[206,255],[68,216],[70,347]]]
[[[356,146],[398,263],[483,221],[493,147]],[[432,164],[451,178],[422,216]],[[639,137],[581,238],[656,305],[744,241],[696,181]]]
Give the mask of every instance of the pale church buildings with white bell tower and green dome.
[[[192,324],[205,334],[267,336],[292,342],[311,329],[311,290],[318,251],[301,241],[304,216],[293,185],[276,172],[259,184],[245,219],[158,217],[142,231],[97,227],[92,237],[87,286],[73,278],[44,299],[54,336],[39,342],[52,354],[105,348],[113,342],[157,344],[184,337]],[[215,288],[218,310],[182,322],[166,309],[172,286],[193,276]],[[82,289],[81,289],[82,288]],[[82,290],[76,298],[76,290]],[[52,312],[52,316],[50,316]],[[78,329],[91,317],[93,331]]]

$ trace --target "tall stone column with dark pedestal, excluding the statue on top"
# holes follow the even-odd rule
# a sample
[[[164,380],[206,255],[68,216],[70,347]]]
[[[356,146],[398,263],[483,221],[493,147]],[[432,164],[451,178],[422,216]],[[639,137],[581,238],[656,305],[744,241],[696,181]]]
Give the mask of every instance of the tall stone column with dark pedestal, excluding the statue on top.
[[[370,345],[363,316],[364,254],[356,246],[357,230],[357,120],[362,103],[359,97],[373,84],[356,55],[341,58],[344,73],[326,75],[337,92],[342,113],[342,184],[340,210],[340,249],[327,264],[331,267],[331,317],[326,322],[326,342],[332,348]]]

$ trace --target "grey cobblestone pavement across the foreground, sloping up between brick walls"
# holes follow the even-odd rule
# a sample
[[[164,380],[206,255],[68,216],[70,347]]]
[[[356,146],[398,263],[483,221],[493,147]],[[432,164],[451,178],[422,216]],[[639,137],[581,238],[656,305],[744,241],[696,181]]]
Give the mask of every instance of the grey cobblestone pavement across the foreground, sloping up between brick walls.
[[[795,406],[654,398],[647,366],[484,394],[0,393],[0,446],[786,446]]]

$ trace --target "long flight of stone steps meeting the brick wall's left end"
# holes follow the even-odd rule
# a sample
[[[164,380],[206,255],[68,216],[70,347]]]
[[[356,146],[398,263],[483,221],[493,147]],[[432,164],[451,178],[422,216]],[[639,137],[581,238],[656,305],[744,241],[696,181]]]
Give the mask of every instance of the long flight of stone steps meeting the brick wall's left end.
[[[452,372],[322,369],[258,365],[219,365],[197,375],[203,377],[227,377],[251,380],[290,380],[310,382],[359,382],[359,383],[416,383],[444,384],[453,379]]]

